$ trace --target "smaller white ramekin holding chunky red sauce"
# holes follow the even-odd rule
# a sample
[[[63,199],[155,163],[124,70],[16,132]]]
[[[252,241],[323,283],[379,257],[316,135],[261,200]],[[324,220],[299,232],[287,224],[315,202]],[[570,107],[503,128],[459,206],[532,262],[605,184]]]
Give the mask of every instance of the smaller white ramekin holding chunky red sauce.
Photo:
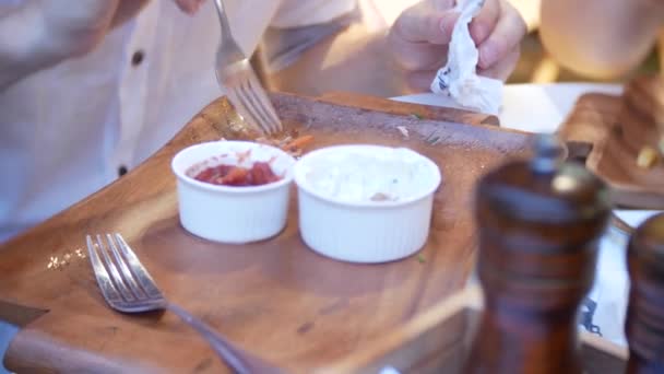
[[[216,186],[193,178],[193,170],[238,164],[238,153],[250,151],[240,165],[272,160],[272,171],[282,178],[262,186]],[[295,159],[270,145],[246,141],[214,141],[191,145],[173,159],[182,226],[205,239],[249,243],[278,234],[288,217],[289,186]]]

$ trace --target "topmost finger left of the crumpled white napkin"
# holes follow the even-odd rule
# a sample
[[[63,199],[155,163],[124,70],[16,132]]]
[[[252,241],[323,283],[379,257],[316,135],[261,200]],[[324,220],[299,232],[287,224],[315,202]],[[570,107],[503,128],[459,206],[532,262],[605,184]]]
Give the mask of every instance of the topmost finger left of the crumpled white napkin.
[[[420,2],[396,19],[391,33],[411,43],[449,44],[458,17],[456,12],[437,11],[426,2]]]

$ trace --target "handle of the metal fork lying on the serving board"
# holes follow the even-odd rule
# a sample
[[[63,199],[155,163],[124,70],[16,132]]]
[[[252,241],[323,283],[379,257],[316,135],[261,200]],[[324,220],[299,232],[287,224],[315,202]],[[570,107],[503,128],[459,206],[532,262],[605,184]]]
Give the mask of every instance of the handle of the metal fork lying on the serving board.
[[[228,341],[222,338],[204,322],[189,314],[189,312],[182,309],[175,304],[167,304],[166,308],[178,317],[180,317],[189,326],[193,327],[199,334],[208,340],[212,349],[221,357],[228,366],[230,366],[238,374],[251,374],[249,365],[242,359],[242,354],[238,352]]]

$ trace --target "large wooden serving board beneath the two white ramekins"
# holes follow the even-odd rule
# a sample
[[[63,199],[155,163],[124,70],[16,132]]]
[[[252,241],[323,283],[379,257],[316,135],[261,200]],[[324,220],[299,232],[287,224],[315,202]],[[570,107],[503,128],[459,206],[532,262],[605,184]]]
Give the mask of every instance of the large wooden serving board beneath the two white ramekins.
[[[121,233],[171,302],[247,351],[295,373],[366,349],[464,287],[475,250],[474,184],[498,163],[523,155],[526,133],[482,125],[487,116],[467,113],[418,119],[403,112],[427,107],[412,104],[407,110],[381,112],[374,98],[355,97],[353,106],[285,94],[273,100],[287,128],[315,136],[311,149],[399,144],[440,165],[443,183],[420,254],[372,266],[317,255],[299,238],[295,197],[287,227],[273,239],[234,246],[188,234],[178,221],[170,160],[197,142],[250,137],[229,104],[218,100],[144,164],[0,247],[0,318],[24,325],[8,351],[9,369],[225,372],[176,316],[123,315],[106,305],[88,259],[76,254],[86,254],[90,233]],[[371,109],[363,107],[365,101]],[[393,105],[386,102],[384,107]],[[450,121],[454,118],[466,125]],[[408,130],[407,139],[398,126]],[[48,268],[52,258],[68,254],[68,265]],[[28,313],[37,317],[20,320]]]

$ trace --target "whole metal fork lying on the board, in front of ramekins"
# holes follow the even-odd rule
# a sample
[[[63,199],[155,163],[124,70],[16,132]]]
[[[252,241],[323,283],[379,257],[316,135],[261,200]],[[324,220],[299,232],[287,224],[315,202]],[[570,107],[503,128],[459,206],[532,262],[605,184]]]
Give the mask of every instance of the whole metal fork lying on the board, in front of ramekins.
[[[95,278],[104,299],[112,308],[124,313],[170,311],[201,334],[236,373],[281,372],[234,347],[205,323],[169,303],[120,234],[87,235],[86,242]]]

